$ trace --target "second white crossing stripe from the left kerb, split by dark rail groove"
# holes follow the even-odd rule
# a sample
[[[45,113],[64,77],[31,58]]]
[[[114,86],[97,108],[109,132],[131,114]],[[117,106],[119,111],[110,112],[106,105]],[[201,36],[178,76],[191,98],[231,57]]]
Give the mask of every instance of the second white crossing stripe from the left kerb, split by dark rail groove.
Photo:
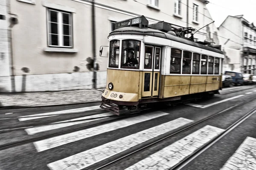
[[[70,119],[70,120],[61,121],[61,122],[55,122],[55,123],[52,123],[53,125],[32,127],[32,128],[27,128],[25,130],[29,135],[33,135],[35,133],[45,132],[45,131],[58,129],[58,128],[62,128],[62,127],[78,125],[78,124],[81,124],[81,123],[91,122],[91,121],[95,121],[95,120],[99,120],[99,119],[106,119],[107,117],[99,118],[99,119],[92,119],[92,120],[83,120],[83,121],[77,121],[77,120],[91,119],[91,118],[97,118],[97,117],[102,117],[102,116],[112,116],[112,115],[113,115],[113,113],[102,113],[102,114],[97,114],[97,115],[92,115],[92,116],[84,116],[84,117],[80,117],[80,118],[76,118],[76,119]],[[77,121],[77,122],[71,122],[71,121]],[[58,123],[58,124],[56,124],[56,123]],[[54,125],[54,124],[56,124],[56,125]]]

